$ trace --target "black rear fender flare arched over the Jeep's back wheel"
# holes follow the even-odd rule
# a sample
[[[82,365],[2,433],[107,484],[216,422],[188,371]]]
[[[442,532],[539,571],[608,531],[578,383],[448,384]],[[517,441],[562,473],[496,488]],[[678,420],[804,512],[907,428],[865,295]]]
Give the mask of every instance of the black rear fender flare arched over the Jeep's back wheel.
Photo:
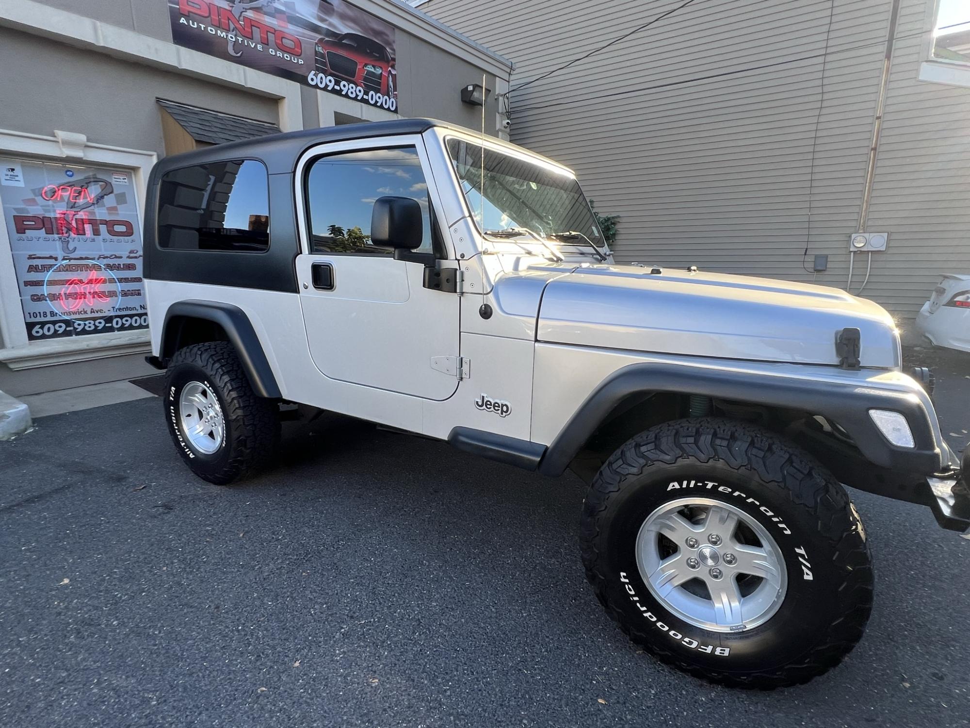
[[[165,312],[165,323],[162,327],[159,358],[163,362],[167,363],[175,354],[181,333],[179,321],[185,318],[202,318],[221,326],[240,357],[242,369],[249,378],[253,391],[260,397],[282,397],[270,360],[266,358],[266,352],[263,351],[263,345],[256,336],[249,316],[233,304],[221,301],[178,301],[172,304]]]

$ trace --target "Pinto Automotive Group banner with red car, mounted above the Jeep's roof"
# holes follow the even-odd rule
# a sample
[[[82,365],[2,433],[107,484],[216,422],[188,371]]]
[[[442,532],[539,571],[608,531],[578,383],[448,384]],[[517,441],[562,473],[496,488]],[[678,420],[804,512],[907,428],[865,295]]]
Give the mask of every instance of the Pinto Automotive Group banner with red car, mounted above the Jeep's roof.
[[[344,0],[168,0],[178,46],[397,111],[394,26]]]

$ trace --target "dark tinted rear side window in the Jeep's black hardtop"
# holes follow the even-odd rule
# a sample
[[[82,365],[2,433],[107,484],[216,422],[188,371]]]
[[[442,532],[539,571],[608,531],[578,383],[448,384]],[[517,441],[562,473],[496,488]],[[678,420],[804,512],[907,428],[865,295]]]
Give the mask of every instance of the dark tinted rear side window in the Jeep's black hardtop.
[[[270,247],[270,184],[252,159],[167,172],[158,194],[158,245],[261,252]]]

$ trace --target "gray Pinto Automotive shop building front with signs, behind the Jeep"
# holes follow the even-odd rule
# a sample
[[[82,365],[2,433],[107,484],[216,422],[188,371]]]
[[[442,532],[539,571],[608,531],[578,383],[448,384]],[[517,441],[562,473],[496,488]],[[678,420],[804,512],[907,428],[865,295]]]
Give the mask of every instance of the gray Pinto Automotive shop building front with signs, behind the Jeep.
[[[510,72],[394,0],[0,0],[0,390],[153,373],[141,226],[157,159],[398,116],[503,135]],[[469,84],[484,106],[463,103]]]

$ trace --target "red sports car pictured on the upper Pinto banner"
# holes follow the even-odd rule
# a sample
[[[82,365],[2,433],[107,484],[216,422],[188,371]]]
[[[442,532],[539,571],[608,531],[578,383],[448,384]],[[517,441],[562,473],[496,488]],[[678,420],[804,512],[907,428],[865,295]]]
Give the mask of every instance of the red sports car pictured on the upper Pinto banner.
[[[359,33],[316,42],[316,70],[392,98],[398,97],[395,59],[382,45]]]

